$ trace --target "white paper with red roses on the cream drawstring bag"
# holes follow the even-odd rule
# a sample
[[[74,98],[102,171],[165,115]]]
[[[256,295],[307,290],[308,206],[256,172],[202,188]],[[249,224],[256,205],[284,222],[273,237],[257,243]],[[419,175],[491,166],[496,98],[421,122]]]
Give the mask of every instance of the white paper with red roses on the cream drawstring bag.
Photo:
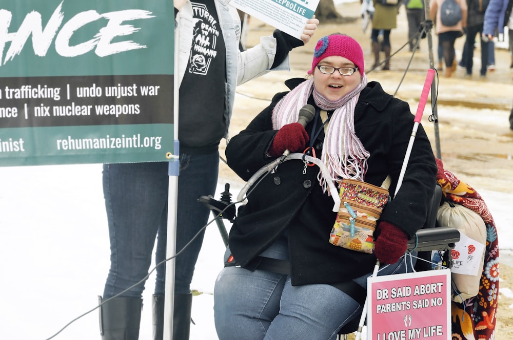
[[[472,240],[464,233],[460,233],[460,241],[452,249],[451,272],[465,275],[477,275],[483,270],[483,253],[485,245]]]

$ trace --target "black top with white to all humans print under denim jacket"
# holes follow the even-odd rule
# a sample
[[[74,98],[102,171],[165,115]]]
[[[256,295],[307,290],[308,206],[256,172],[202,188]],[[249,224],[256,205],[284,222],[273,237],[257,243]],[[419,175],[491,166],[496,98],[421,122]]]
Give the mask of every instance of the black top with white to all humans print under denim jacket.
[[[180,86],[178,137],[181,151],[204,153],[216,150],[226,131],[226,50],[214,1],[192,2],[192,10],[195,25]]]

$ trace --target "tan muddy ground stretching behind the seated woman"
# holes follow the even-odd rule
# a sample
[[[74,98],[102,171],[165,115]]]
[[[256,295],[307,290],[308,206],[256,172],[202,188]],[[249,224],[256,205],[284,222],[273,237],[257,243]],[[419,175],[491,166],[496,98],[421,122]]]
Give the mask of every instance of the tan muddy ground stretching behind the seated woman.
[[[279,91],[286,91],[283,83],[292,77],[304,77],[310,69],[312,51],[317,40],[330,33],[341,32],[356,38],[365,54],[365,65],[373,63],[370,53],[370,27],[363,32],[358,2],[338,6],[344,16],[343,24],[321,23],[312,41],[305,47],[290,53],[290,72],[271,72],[238,87],[235,111],[230,125],[230,134],[243,130],[249,121],[269,104],[270,98]],[[258,44],[260,36],[272,34],[273,28],[255,18],[250,18],[247,33],[248,47]],[[398,14],[398,28],[392,30],[391,71],[367,71],[369,80],[381,82],[384,89],[410,103],[415,113],[427,70],[438,66],[438,38],[432,36],[421,40],[420,51],[413,55],[407,47],[407,22],[404,7]],[[456,42],[457,58],[461,57],[464,37]],[[406,46],[399,50],[402,46]],[[431,52],[431,50],[433,52]],[[444,166],[460,179],[479,188],[498,192],[510,192],[513,188],[513,131],[509,130],[508,115],[513,100],[513,70],[509,69],[508,52],[496,49],[496,71],[487,77],[479,77],[480,50],[474,55],[474,75],[465,77],[464,70],[457,70],[451,78],[443,72],[436,76],[437,105],[432,122],[430,94],[422,125],[432,140],[433,151]],[[408,71],[406,72],[406,69]],[[222,142],[223,143],[223,142]],[[224,145],[221,146],[223,156]],[[221,164],[220,183],[242,183],[225,164]],[[513,268],[501,264],[501,290],[513,290]],[[496,340],[513,338],[513,299],[500,294],[497,313]]]

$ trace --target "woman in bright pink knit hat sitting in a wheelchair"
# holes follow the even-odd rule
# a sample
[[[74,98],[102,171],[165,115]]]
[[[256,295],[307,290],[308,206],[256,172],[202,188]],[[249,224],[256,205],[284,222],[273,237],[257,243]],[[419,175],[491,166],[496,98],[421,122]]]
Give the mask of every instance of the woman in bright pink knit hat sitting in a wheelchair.
[[[390,176],[394,192],[413,127],[408,103],[367,82],[362,48],[347,35],[320,39],[308,74],[287,80],[291,91],[275,95],[231,138],[228,165],[247,181],[284,153],[305,153],[320,159],[337,188],[344,179],[379,187]],[[298,122],[306,104],[314,117]],[[219,338],[336,338],[362,310],[344,283],[366,287],[377,259],[379,275],[412,271],[403,255],[426,220],[436,174],[419,125],[400,190],[370,238],[374,251],[366,253],[329,242],[337,213],[320,167],[302,159],[280,163],[251,186],[231,227],[231,256],[214,288]]]

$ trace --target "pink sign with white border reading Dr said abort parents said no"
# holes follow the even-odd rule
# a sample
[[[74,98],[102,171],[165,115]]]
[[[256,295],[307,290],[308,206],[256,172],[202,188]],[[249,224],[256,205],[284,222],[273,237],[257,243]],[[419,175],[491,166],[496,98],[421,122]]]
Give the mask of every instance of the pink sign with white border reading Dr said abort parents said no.
[[[449,269],[369,278],[367,299],[368,339],[451,339]]]

